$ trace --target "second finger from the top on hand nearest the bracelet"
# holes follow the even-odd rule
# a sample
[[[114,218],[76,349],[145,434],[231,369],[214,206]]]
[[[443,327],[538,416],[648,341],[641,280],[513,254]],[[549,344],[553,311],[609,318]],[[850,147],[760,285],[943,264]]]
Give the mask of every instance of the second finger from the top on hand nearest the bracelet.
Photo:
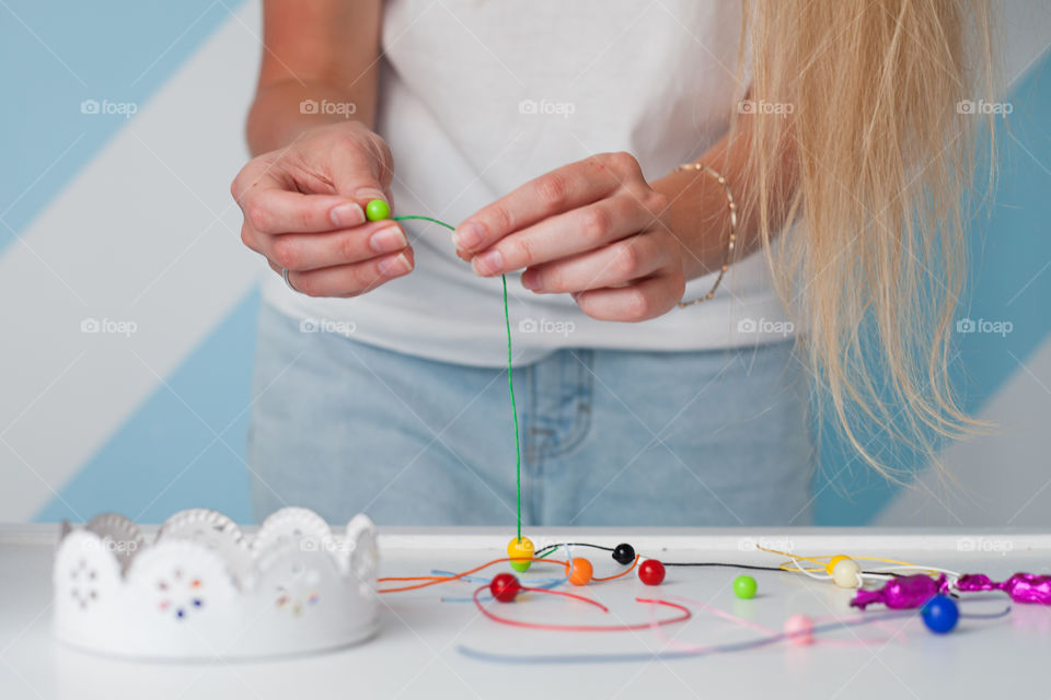
[[[483,277],[503,275],[586,253],[652,223],[652,214],[634,197],[614,196],[512,233],[472,258],[471,267]]]

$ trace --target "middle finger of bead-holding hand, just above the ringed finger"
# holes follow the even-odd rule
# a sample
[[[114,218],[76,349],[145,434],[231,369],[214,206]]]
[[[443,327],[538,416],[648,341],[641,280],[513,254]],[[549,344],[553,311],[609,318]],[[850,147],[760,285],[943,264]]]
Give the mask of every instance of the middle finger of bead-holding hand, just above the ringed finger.
[[[361,262],[408,246],[405,232],[391,221],[328,233],[284,233],[262,237],[263,255],[279,267],[297,271]]]

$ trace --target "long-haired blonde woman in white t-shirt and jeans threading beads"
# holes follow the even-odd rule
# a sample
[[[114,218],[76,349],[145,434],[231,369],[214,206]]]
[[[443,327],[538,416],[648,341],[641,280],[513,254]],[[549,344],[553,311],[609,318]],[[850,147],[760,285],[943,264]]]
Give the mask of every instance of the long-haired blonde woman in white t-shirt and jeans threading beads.
[[[806,524],[808,386],[888,475],[873,425],[969,430],[955,106],[988,86],[986,12],[266,0],[232,186],[275,272],[257,514],[512,521],[501,275],[527,523]]]

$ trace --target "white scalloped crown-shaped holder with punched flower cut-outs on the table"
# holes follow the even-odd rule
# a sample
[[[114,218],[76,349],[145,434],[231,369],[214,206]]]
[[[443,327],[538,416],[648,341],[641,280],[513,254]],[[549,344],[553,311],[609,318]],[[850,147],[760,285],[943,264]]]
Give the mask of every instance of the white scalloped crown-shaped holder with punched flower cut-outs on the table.
[[[62,524],[55,553],[56,637],[103,654],[173,660],[301,654],[379,628],[376,526],[342,536],[286,508],[249,537],[205,509],[170,517],[147,544],[116,514]]]

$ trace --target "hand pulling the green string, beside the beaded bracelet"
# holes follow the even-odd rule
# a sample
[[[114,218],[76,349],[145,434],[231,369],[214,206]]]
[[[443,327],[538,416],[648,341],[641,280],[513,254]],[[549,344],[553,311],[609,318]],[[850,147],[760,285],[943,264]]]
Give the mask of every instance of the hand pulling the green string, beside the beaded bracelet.
[[[524,269],[522,285],[568,292],[602,320],[645,320],[682,299],[684,248],[668,198],[627,153],[603,153],[527,183],[457,228],[460,257],[492,277]]]

